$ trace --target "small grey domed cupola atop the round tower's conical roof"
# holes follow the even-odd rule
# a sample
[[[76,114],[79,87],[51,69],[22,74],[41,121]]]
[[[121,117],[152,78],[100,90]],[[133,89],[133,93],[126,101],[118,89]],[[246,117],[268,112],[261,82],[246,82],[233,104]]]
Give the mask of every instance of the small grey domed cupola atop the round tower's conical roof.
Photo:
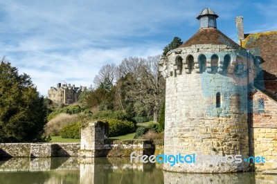
[[[218,15],[215,14],[213,10],[210,8],[205,8],[198,15],[197,19],[199,19],[200,29],[202,28],[217,28],[216,19]]]

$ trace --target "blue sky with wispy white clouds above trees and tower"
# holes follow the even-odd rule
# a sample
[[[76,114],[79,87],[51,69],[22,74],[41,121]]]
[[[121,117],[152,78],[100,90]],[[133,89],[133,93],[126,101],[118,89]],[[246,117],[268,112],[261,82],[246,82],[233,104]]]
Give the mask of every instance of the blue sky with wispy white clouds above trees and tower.
[[[104,64],[159,55],[173,37],[189,39],[206,7],[234,41],[236,16],[244,33],[277,30],[275,0],[0,0],[0,56],[42,95],[57,82],[90,86]]]

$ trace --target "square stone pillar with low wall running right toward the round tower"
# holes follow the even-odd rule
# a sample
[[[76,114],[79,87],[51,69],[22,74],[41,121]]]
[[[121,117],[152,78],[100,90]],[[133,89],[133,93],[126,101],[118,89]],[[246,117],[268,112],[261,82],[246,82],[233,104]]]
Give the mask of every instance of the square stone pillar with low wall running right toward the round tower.
[[[88,122],[81,131],[80,155],[82,157],[130,156],[154,154],[154,145],[148,140],[109,140],[106,122]]]

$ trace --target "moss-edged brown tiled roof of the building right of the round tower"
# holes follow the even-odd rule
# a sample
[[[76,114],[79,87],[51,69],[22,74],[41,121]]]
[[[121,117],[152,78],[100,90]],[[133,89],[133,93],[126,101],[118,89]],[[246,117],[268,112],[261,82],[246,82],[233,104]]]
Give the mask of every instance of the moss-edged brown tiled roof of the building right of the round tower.
[[[265,80],[277,80],[277,31],[245,34],[242,46],[262,60]]]

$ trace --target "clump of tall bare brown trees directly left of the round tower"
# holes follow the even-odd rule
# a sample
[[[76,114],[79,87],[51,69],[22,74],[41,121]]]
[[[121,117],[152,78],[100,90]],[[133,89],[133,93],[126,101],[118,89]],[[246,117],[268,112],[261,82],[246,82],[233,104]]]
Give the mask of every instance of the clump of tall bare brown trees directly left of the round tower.
[[[100,86],[109,82],[114,85],[114,108],[134,116],[153,116],[158,120],[159,109],[165,96],[165,81],[159,73],[160,56],[123,59],[118,67],[115,64],[102,66],[94,78]]]

